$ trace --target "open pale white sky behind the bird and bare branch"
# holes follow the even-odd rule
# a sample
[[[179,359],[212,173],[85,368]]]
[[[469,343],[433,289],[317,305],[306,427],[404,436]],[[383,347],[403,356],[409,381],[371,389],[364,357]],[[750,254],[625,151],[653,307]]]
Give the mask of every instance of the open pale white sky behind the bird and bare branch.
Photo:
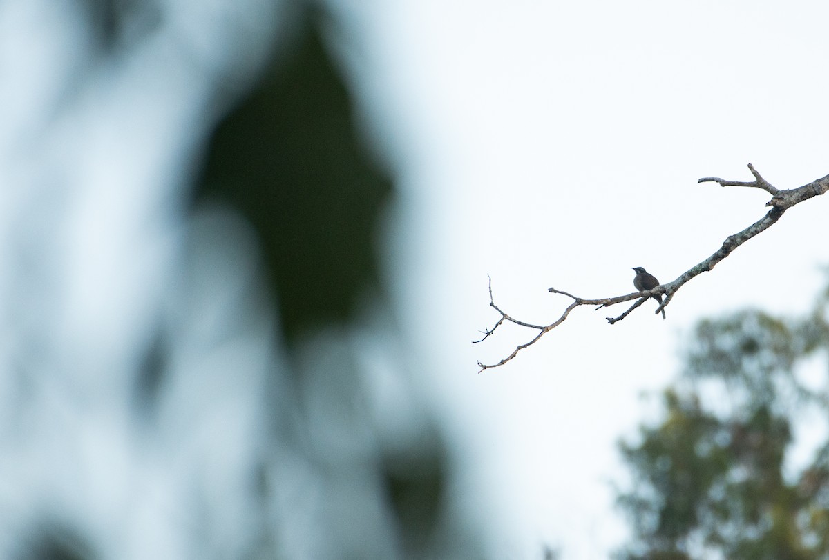
[[[569,299],[669,281],[762,217],[768,194],[829,173],[824,2],[347,2],[356,88],[400,170],[390,267],[423,374],[465,449],[470,508],[505,558],[606,558],[625,526],[616,442],[653,418],[695,321],[795,313],[822,285],[826,201],[787,213],[686,285],[667,321],[645,304],[608,326],[580,308],[506,366]],[[352,53],[353,54],[353,53]],[[361,57],[365,57],[361,59]],[[356,62],[354,62],[356,61]],[[400,263],[402,262],[402,265]],[[400,266],[397,266],[400,265]],[[613,308],[613,313],[623,309]],[[517,331],[517,333],[516,333]],[[508,529],[505,531],[504,529]]]

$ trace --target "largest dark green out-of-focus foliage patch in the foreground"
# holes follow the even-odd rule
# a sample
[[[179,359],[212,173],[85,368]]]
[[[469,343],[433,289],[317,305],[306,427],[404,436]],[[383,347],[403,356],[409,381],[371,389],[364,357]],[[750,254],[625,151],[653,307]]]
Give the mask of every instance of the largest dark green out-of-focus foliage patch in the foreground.
[[[392,192],[358,137],[319,18],[308,12],[289,51],[216,128],[194,194],[255,228],[289,344],[354,318],[379,287],[377,226]]]

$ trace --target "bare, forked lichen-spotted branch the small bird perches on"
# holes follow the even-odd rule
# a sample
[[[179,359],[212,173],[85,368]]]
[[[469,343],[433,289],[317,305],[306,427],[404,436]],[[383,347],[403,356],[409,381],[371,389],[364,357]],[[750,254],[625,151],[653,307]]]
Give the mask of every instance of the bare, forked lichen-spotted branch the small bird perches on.
[[[568,294],[565,291],[555,290],[555,288],[550,288],[551,294],[562,294],[570,299],[573,300],[573,303],[568,305],[565,309],[564,313],[556,319],[553,323],[548,325],[535,325],[531,323],[525,323],[523,321],[519,321],[516,318],[510,317],[508,314],[504,313],[502,309],[500,309],[495,304],[495,299],[492,296],[492,278],[489,279],[489,304],[490,306],[495,309],[499,314],[501,314],[501,318],[495,323],[495,326],[491,329],[484,331],[484,336],[481,340],[477,340],[474,342],[483,342],[488,337],[495,333],[495,330],[500,327],[503,323],[515,323],[520,327],[525,328],[533,328],[538,331],[535,337],[531,338],[528,342],[524,344],[520,344],[516,347],[512,353],[502,359],[502,361],[498,361],[494,364],[483,364],[481,361],[478,361],[478,366],[481,368],[478,373],[481,371],[487,370],[491,367],[503,366],[510,361],[512,358],[516,357],[518,352],[521,352],[526,347],[529,347],[541,339],[546,333],[549,333],[552,329],[558,327],[561,323],[564,323],[567,319],[568,315],[570,315],[570,311],[579,307],[580,305],[597,305],[598,309],[602,309],[603,307],[609,307],[610,305],[619,304],[624,301],[630,301],[632,299],[638,299],[636,303],[634,303],[627,311],[623,314],[619,315],[618,317],[607,317],[607,321],[609,324],[617,323],[621,321],[623,318],[627,317],[629,314],[633,312],[634,309],[637,309],[640,305],[642,305],[648,298],[655,294],[665,294],[665,299],[662,301],[662,304],[656,310],[656,314],[662,312],[662,309],[665,309],[667,304],[671,303],[671,299],[673,299],[674,294],[689,280],[694,278],[696,275],[701,275],[703,272],[708,272],[713,270],[714,267],[725,257],[731,254],[731,251],[734,251],[737,247],[742,245],[744,242],[749,241],[752,237],[759,235],[759,233],[764,232],[769,227],[771,227],[774,223],[777,223],[778,219],[783,216],[783,213],[788,209],[793,207],[797,203],[802,203],[804,200],[811,199],[814,196],[819,196],[824,194],[829,190],[829,175],[822,177],[821,179],[817,179],[812,181],[812,183],[804,184],[802,187],[797,187],[797,189],[788,189],[788,190],[780,190],[773,187],[772,184],[768,183],[766,179],[759,174],[757,170],[754,169],[754,165],[749,163],[749,170],[751,174],[754,175],[754,181],[744,182],[744,181],[729,181],[725,179],[720,179],[719,177],[703,177],[698,182],[699,183],[719,183],[722,187],[753,187],[757,189],[763,189],[768,194],[772,195],[772,199],[766,203],[766,206],[771,206],[772,208],[768,210],[763,218],[760,218],[757,222],[751,224],[749,227],[746,227],[742,232],[734,233],[734,235],[730,235],[726,237],[725,242],[723,242],[722,246],[720,246],[717,251],[711,256],[709,256],[705,261],[702,261],[698,265],[692,266],[689,270],[686,270],[681,275],[679,275],[676,280],[672,282],[668,282],[667,284],[658,285],[656,288],[652,290],[647,290],[643,292],[634,292],[633,294],[627,295],[619,295],[614,298],[604,298],[604,299],[583,299],[574,296],[573,294]]]

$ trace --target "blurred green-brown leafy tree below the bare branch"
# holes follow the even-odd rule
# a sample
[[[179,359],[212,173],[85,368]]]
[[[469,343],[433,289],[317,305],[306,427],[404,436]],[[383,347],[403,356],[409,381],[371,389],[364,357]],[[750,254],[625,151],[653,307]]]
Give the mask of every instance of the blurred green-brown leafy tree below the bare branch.
[[[829,288],[804,317],[697,324],[662,420],[621,443],[635,539],[619,558],[829,558],[829,385],[813,359],[829,348],[827,309]],[[822,438],[805,466],[796,433]]]

